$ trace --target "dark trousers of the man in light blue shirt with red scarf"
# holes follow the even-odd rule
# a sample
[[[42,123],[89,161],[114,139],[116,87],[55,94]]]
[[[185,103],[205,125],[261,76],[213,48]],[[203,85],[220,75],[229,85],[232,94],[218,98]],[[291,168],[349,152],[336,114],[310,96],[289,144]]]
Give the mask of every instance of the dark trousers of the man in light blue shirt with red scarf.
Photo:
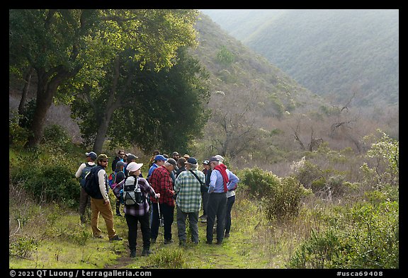
[[[207,242],[212,243],[212,229],[214,228],[215,216],[217,216],[217,243],[222,243],[225,211],[227,210],[227,193],[210,193],[208,195],[207,210]]]

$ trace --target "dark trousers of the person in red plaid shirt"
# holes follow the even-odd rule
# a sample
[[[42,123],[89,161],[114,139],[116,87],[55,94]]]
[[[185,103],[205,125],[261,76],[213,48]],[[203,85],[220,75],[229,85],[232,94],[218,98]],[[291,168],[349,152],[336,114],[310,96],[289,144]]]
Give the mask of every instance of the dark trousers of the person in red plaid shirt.
[[[152,217],[152,239],[156,240],[159,235],[159,206],[157,203],[152,204],[153,217]],[[160,215],[164,220],[164,239],[171,240],[171,224],[174,221],[174,207],[169,204],[160,204]]]

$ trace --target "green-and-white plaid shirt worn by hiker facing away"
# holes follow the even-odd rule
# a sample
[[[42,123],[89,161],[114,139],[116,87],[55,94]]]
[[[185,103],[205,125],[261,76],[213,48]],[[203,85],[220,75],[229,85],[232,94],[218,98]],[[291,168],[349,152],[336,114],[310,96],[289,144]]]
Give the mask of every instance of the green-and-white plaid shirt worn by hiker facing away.
[[[200,170],[193,170],[194,173],[205,183],[205,175]],[[174,184],[176,192],[177,207],[183,212],[199,212],[201,207],[200,182],[189,171],[179,173]]]

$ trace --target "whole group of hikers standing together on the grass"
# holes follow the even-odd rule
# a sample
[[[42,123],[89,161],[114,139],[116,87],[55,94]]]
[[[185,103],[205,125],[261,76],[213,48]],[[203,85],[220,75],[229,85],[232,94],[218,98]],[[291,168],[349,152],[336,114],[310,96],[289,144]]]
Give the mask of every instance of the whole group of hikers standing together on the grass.
[[[173,242],[171,225],[174,222],[175,208],[179,245],[186,245],[187,219],[191,243],[198,244],[199,219],[207,224],[205,243],[212,244],[214,231],[217,244],[229,237],[234,190],[239,178],[223,164],[222,156],[212,156],[203,161],[203,170],[199,170],[197,159],[188,154],[181,156],[174,151],[169,157],[157,150],[149,161],[149,171],[144,178],[141,173],[143,163],[136,162],[138,157],[120,150],[111,166],[115,180],[110,183],[112,174],[106,173],[108,156],[97,156],[93,151],[85,155],[86,162],[81,163],[75,174],[81,183],[79,214],[81,223],[85,224],[86,206],[91,204],[91,228],[95,238],[103,238],[101,229],[98,228],[101,215],[106,223],[109,241],[123,240],[115,232],[108,197],[110,189],[116,193],[117,216],[122,216],[120,205],[123,204],[124,207],[130,257],[136,257],[137,222],[142,231],[142,256],[151,253],[150,244],[157,241],[159,226],[164,226],[164,244]],[[97,187],[96,194],[92,194],[94,196],[90,196],[85,190],[88,173],[92,174]],[[198,216],[202,205],[203,215]]]

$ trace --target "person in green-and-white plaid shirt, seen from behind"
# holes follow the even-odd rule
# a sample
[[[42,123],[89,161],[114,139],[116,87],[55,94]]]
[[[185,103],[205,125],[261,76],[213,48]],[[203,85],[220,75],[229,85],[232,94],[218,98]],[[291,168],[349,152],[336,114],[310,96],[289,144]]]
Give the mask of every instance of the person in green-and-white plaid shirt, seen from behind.
[[[191,242],[198,243],[198,212],[201,207],[201,183],[205,183],[205,175],[197,170],[197,159],[190,157],[186,161],[186,169],[181,172],[174,184],[177,204],[177,230],[179,245],[186,245],[186,219],[190,222]],[[200,181],[196,178],[201,180]]]

